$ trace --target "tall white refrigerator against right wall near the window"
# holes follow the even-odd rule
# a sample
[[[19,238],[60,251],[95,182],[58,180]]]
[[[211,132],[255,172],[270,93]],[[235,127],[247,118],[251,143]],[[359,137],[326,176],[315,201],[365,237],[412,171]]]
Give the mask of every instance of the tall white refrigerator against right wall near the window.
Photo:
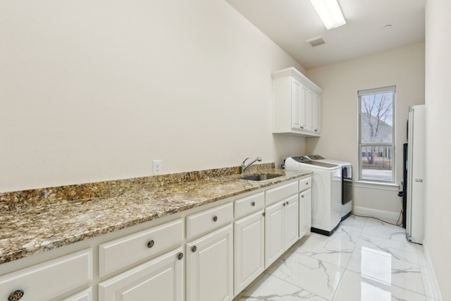
[[[424,239],[424,104],[409,107],[407,123],[407,240]]]

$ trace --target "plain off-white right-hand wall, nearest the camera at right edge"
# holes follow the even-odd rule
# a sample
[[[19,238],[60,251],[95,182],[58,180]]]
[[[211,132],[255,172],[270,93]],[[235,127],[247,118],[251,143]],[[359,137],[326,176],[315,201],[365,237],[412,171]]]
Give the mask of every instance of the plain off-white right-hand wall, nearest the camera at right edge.
[[[443,300],[451,300],[451,2],[426,2],[425,246]]]

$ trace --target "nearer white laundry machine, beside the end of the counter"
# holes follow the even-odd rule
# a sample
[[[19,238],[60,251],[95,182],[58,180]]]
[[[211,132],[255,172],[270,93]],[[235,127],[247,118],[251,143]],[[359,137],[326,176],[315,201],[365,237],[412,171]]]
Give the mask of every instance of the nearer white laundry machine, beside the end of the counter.
[[[285,169],[311,171],[311,231],[330,235],[341,221],[342,168],[305,156],[285,159]]]

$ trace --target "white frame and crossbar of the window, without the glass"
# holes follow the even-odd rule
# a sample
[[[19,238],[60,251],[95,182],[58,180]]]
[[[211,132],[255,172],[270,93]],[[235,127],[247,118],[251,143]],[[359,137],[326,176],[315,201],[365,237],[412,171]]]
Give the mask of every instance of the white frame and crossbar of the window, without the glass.
[[[393,93],[392,99],[392,142],[362,142],[362,96],[372,95],[372,94],[381,94],[381,93]],[[358,108],[359,108],[359,128],[358,128],[358,161],[359,161],[359,171],[358,171],[358,180],[367,183],[379,183],[379,184],[395,184],[396,183],[396,86],[388,86],[388,87],[379,87],[368,90],[359,90],[357,91],[357,99],[358,99]],[[362,147],[392,147],[392,179],[388,180],[375,180],[363,178],[362,175]]]

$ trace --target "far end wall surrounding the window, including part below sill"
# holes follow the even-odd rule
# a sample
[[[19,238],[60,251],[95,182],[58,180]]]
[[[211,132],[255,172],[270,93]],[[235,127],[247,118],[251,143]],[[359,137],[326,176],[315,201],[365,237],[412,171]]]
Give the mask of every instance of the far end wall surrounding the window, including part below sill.
[[[312,68],[307,76],[324,90],[321,137],[307,139],[307,152],[351,162],[354,180],[359,166],[357,91],[396,85],[396,183],[400,184],[408,108],[424,104],[424,43]],[[397,219],[402,198],[397,190],[354,188],[354,207],[392,212]]]

